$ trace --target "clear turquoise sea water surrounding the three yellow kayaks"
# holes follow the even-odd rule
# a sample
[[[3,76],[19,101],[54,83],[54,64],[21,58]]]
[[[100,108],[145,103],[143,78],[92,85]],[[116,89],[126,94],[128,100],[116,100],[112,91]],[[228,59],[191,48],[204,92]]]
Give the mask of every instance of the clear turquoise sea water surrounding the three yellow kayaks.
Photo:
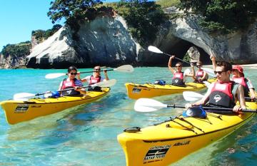
[[[257,87],[256,69],[244,69]],[[10,99],[14,93],[56,90],[63,78],[46,80],[44,76],[59,72],[66,70],[0,70],[0,100]],[[109,78],[116,78],[118,82],[106,97],[17,125],[8,125],[0,108],[0,165],[126,165],[123,150],[116,140],[124,128],[153,125],[182,110],[136,113],[133,110],[135,100],[126,96],[124,83],[153,83],[157,79],[168,81],[170,77],[167,68],[135,68],[133,73],[109,72]],[[156,100],[179,105],[186,103],[181,95]],[[256,165],[256,120],[255,116],[243,128],[175,165]]]

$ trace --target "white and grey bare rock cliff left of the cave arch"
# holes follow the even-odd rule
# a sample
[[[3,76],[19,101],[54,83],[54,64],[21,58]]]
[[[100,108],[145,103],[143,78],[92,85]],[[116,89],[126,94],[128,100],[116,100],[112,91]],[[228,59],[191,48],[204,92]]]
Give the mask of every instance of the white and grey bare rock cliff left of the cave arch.
[[[126,31],[121,17],[101,17],[81,24],[79,41],[72,39],[69,27],[60,28],[43,43],[36,45],[26,66],[32,68],[79,68],[96,65],[120,66],[134,63],[138,45]]]

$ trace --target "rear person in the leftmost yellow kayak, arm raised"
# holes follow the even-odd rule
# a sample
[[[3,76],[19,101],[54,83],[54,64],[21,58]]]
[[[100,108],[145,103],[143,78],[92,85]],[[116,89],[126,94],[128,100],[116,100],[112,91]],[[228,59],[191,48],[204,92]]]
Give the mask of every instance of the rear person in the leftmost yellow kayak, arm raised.
[[[105,77],[105,78],[104,78]],[[93,85],[94,83],[99,83],[101,81],[109,81],[109,77],[107,75],[107,71],[104,70],[104,77],[101,76],[101,67],[100,66],[95,66],[94,67],[94,72],[93,75],[91,76],[86,76],[85,78],[82,78],[81,81],[82,83],[87,82],[89,83],[89,85]],[[80,77],[78,77],[78,79],[80,79]],[[93,90],[93,91],[100,91],[101,87],[94,87],[94,88],[89,88],[88,89]]]

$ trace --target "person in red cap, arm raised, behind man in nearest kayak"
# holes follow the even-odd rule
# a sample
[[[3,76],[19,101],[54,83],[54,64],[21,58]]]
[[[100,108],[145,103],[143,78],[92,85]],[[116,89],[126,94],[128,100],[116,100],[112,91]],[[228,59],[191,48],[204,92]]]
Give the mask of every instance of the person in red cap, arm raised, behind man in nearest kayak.
[[[213,64],[213,70],[215,71],[216,58],[213,55],[211,55],[210,58]],[[231,81],[235,81],[236,83],[240,83],[241,85],[243,85],[244,96],[250,96],[251,99],[255,99],[256,93],[254,91],[253,84],[251,83],[249,78],[244,77],[243,68],[239,65],[233,66],[232,74],[233,76],[231,78]]]

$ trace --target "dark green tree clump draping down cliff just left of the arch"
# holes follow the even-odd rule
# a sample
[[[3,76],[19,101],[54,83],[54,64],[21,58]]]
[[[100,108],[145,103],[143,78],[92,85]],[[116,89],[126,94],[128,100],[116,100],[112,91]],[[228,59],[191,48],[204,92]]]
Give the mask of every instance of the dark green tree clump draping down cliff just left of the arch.
[[[124,17],[131,35],[142,46],[156,39],[159,26],[167,20],[161,6],[154,1],[121,0],[112,7]]]

